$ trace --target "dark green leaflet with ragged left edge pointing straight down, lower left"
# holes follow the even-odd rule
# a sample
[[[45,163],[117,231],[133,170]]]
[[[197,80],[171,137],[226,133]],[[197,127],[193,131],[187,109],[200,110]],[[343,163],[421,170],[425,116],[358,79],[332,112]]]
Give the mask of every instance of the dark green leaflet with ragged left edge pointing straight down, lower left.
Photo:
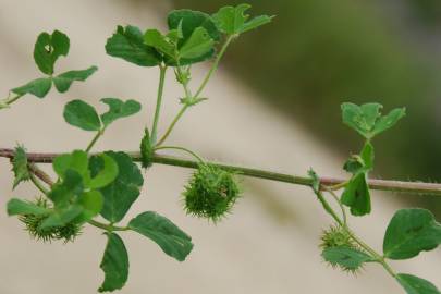
[[[122,289],[128,278],[128,254],[124,242],[115,233],[106,233],[108,240],[100,268],[105,272],[105,281],[99,292],[111,292]]]

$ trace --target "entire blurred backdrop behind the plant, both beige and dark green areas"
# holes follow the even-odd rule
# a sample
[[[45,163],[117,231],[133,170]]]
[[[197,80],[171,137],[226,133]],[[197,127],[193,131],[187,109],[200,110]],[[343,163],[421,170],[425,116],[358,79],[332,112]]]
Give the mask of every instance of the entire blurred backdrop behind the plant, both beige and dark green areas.
[[[158,72],[105,54],[117,25],[166,29],[168,11],[191,8],[209,13],[242,1],[56,1],[0,0],[0,90],[39,75],[32,50],[41,30],[61,29],[71,52],[60,71],[96,64],[99,72],[64,96],[26,97],[0,113],[0,145],[24,144],[32,151],[83,148],[90,134],[62,120],[70,99],[99,106],[101,97],[143,101],[142,114],[109,130],[97,149],[135,150],[155,107]],[[209,101],[194,108],[175,130],[171,144],[205,158],[293,174],[314,167],[342,176],[342,162],[363,142],[341,123],[344,101],[377,101],[384,112],[406,107],[407,117],[376,139],[372,176],[437,182],[441,177],[441,2],[438,0],[257,0],[253,14],[277,19],[241,37],[207,89]],[[207,64],[196,66],[200,81]],[[168,76],[163,131],[179,109],[181,89]],[[221,134],[221,135],[220,135]],[[48,168],[48,167],[46,167]],[[0,205],[11,197],[36,196],[32,185],[11,192],[12,174],[0,160]],[[168,216],[194,237],[188,260],[177,264],[156,245],[127,234],[131,275],[121,293],[402,293],[376,266],[354,278],[328,268],[317,248],[330,219],[304,187],[243,179],[245,195],[234,213],[212,225],[182,211],[180,193],[189,171],[154,167],[131,216],[146,209]],[[439,210],[430,197],[375,193],[373,213],[354,219],[356,231],[381,248],[385,225],[399,208],[418,205]],[[106,240],[86,229],[75,244],[29,240],[16,219],[0,210],[0,293],[95,293]],[[424,254],[396,269],[431,280],[439,287],[440,254]]]

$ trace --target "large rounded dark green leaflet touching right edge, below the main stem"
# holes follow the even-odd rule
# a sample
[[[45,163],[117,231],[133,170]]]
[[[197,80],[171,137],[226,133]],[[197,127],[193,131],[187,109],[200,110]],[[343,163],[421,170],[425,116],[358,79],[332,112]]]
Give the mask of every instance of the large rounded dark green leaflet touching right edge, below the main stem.
[[[426,209],[401,209],[392,218],[383,241],[384,256],[407,259],[441,244],[441,224]]]

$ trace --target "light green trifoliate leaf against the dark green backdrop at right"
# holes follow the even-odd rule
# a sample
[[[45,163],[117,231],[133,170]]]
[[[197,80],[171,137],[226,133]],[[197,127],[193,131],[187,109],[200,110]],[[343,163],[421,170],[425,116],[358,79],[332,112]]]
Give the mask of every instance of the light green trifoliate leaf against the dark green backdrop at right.
[[[357,106],[354,103],[342,105],[343,122],[357,131],[367,139],[392,127],[400,119],[405,115],[404,108],[392,110],[388,115],[381,117],[379,103],[366,103]]]

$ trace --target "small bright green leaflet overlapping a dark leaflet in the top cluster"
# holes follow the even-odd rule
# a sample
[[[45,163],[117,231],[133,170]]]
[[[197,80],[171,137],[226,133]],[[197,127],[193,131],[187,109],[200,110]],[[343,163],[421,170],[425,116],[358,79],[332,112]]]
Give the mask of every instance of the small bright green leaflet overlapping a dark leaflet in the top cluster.
[[[207,29],[197,27],[188,40],[180,49],[180,58],[198,59],[212,51],[215,40],[208,35]]]

